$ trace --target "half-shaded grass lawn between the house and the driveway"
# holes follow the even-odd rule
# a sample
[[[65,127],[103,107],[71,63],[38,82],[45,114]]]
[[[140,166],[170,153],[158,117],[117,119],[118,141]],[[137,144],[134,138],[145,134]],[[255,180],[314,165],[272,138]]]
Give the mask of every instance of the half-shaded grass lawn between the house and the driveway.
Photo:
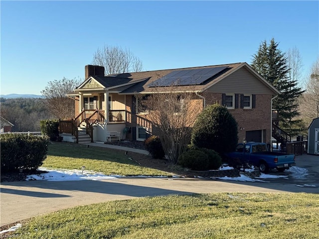
[[[49,169],[78,169],[102,172],[106,175],[171,176],[171,173],[143,167],[121,150],[86,145],[53,142],[41,167]]]

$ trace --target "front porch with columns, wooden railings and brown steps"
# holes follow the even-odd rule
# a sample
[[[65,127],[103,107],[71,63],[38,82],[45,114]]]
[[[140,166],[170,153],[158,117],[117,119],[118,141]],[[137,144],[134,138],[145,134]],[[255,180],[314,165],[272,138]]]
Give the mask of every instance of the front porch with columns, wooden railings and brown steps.
[[[107,136],[110,132],[120,134],[120,137],[112,137],[112,140],[125,139],[124,129],[130,118],[125,95],[91,90],[90,93],[79,91],[73,96],[76,117],[60,120],[59,124],[60,134],[63,134],[65,141],[107,142],[110,141]]]

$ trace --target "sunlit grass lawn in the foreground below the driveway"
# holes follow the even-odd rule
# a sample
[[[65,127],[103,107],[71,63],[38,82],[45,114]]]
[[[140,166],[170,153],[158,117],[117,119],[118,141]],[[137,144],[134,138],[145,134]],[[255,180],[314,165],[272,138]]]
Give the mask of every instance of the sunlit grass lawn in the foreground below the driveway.
[[[319,195],[213,193],[75,207],[10,236],[68,239],[318,239]]]

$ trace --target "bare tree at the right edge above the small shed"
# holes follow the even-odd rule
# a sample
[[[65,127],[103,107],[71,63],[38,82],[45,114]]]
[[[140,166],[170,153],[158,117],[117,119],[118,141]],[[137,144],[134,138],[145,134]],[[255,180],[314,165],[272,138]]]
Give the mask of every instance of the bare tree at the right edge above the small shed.
[[[301,99],[301,112],[307,125],[319,118],[319,58],[313,64],[310,76],[306,82],[306,92]]]

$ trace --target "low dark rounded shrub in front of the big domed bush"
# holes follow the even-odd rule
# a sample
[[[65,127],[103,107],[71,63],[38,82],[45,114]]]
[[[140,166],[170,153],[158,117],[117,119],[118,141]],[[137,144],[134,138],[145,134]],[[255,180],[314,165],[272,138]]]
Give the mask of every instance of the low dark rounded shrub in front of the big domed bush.
[[[177,163],[191,170],[206,170],[208,167],[208,156],[201,150],[187,150],[179,157]]]

